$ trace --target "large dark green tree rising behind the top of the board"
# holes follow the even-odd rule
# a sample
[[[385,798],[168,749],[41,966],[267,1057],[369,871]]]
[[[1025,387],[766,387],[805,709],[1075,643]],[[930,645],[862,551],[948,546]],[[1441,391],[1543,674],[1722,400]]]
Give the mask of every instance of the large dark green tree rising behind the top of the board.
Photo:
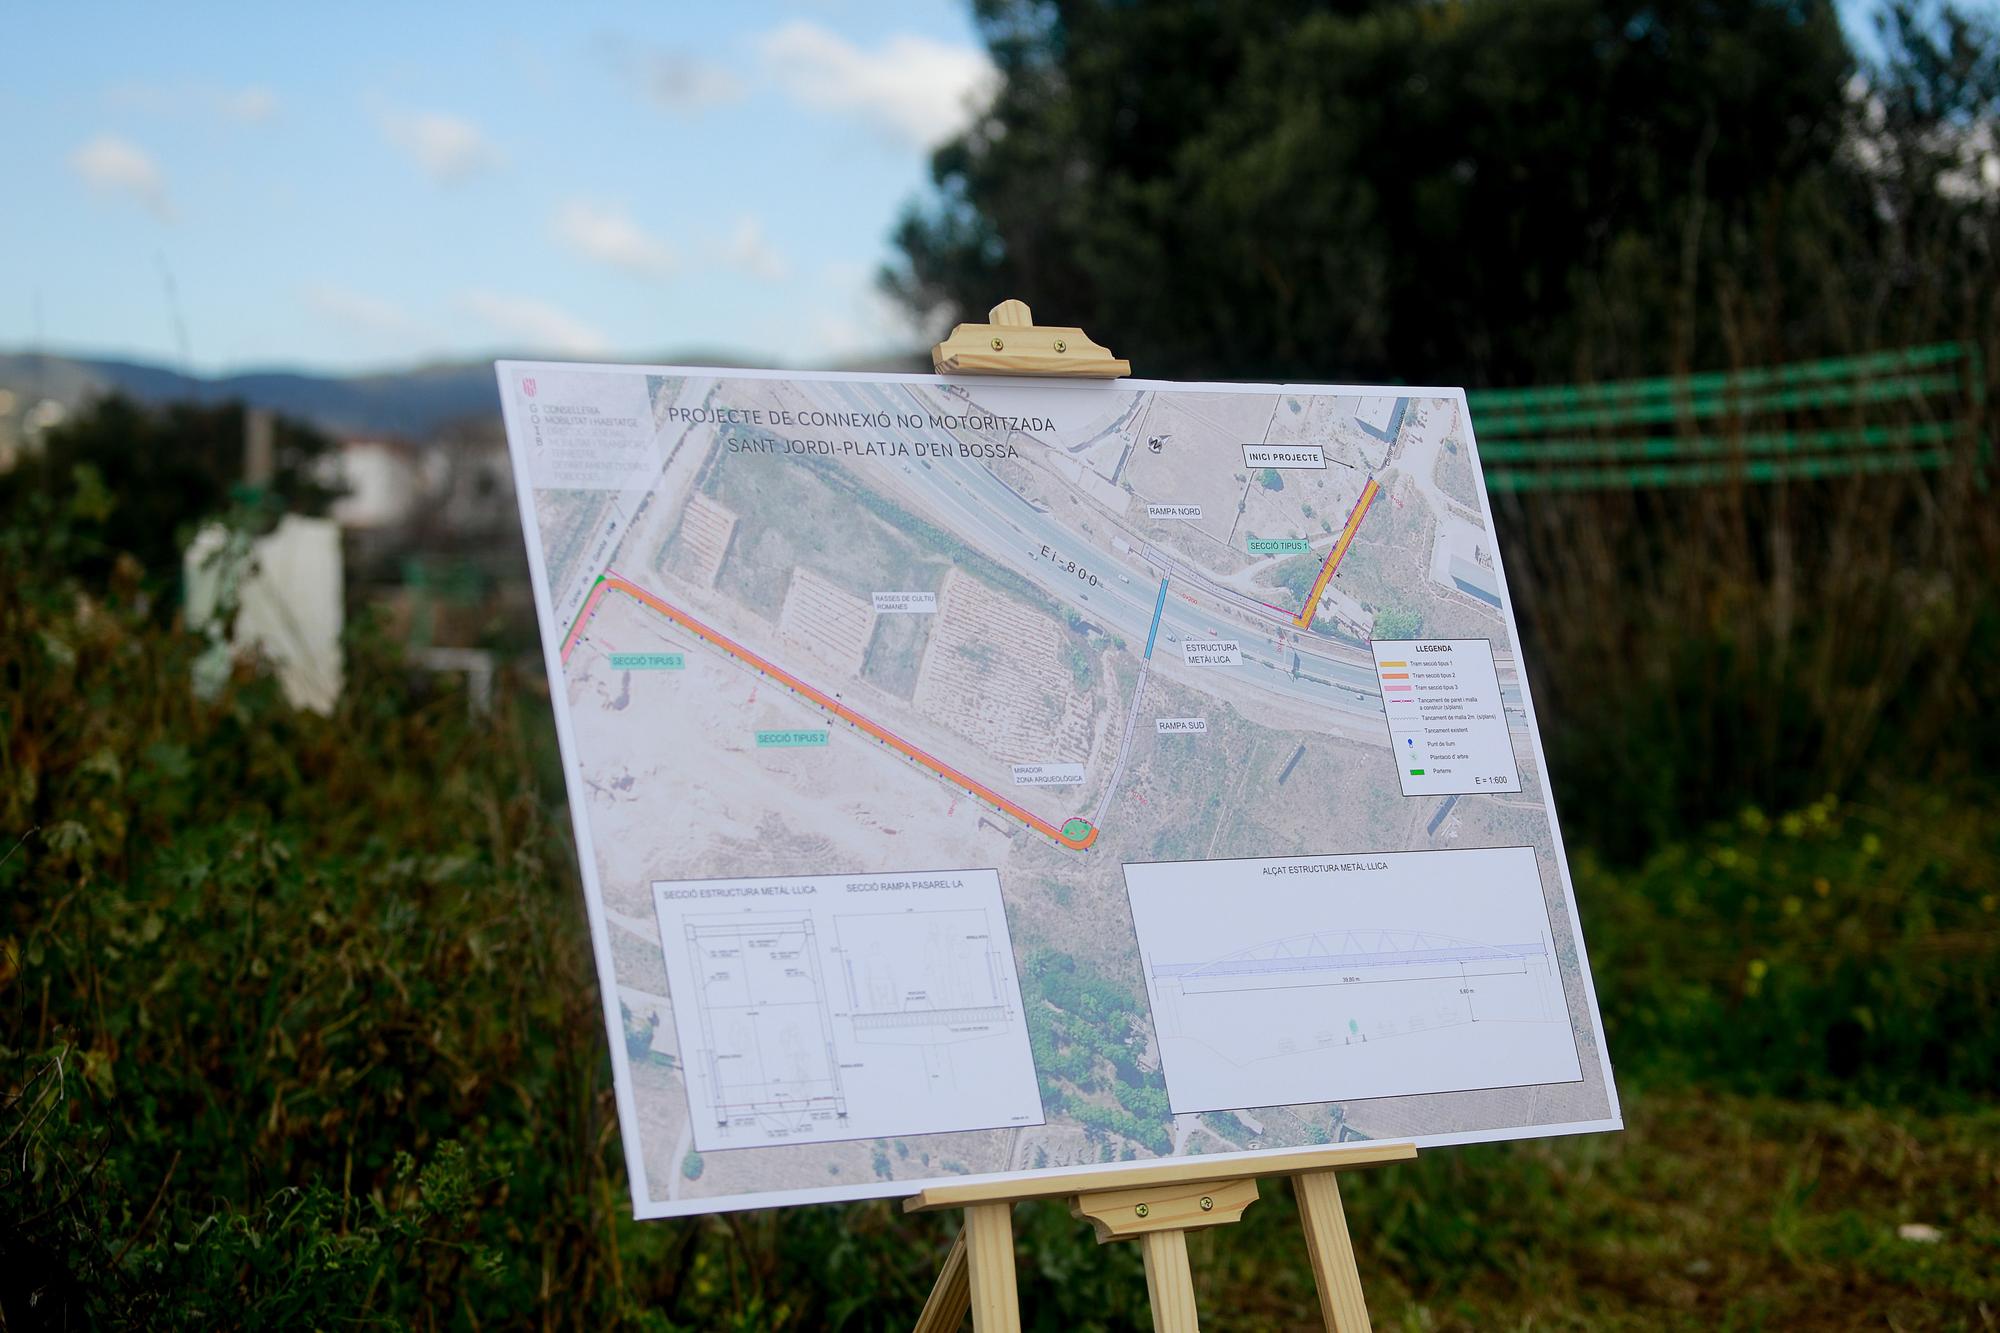
[[[1736,312],[1692,298],[1710,266],[1778,246],[1804,290],[1770,228],[1868,212],[1824,0],[976,12],[1000,90],[884,282],[926,314],[1060,292],[1154,374],[1662,368]]]

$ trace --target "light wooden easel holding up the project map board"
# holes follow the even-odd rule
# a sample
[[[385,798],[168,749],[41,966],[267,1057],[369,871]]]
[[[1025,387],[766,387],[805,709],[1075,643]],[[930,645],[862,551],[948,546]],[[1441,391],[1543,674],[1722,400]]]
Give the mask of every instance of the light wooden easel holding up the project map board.
[[[930,348],[938,374],[1044,374],[1118,378],[1132,362],[1098,346],[1082,328],[1034,322],[1018,300],[1002,300],[986,324],[958,324]],[[934,1185],[904,1203],[910,1213],[964,1209],[966,1223],[944,1257],[944,1271],[916,1319],[916,1333],[958,1333],[972,1311],[976,1333],[1016,1333],[1014,1205],[1068,1199],[1070,1215],[1090,1219],[1098,1243],[1138,1239],[1146,1251],[1146,1295],[1154,1333],[1198,1333],[1188,1233],[1238,1221],[1258,1199],[1258,1181],[1290,1177],[1306,1233],[1320,1315],[1330,1333],[1366,1333],[1368,1303],[1354,1267],[1348,1219],[1340,1209],[1340,1171],[1416,1157],[1414,1143],[1354,1143],[1302,1149],[1252,1161],[1162,1161],[1122,1171],[1066,1171],[990,1185]]]

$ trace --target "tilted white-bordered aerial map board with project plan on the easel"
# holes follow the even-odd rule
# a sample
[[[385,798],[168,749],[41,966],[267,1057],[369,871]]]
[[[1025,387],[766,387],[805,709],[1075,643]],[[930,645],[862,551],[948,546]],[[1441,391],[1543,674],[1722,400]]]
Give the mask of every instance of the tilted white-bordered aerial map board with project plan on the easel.
[[[1620,1125],[1460,390],[498,378],[636,1215]]]

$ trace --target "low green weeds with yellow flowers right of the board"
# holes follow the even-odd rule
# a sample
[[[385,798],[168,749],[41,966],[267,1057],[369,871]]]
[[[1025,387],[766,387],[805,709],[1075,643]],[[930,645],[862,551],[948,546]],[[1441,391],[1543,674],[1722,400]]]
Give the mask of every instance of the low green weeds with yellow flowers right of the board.
[[[1632,873],[1578,857],[1612,1059],[1642,1079],[1962,1105],[2000,1091],[2000,811],[1748,811]]]

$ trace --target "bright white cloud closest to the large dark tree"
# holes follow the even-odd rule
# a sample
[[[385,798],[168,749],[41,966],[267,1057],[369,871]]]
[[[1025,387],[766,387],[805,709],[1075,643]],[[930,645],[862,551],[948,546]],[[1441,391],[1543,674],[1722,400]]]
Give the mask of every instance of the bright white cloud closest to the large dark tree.
[[[998,78],[976,46],[896,34],[862,50],[802,18],[758,38],[758,54],[804,106],[852,112],[926,148],[962,130]]]

